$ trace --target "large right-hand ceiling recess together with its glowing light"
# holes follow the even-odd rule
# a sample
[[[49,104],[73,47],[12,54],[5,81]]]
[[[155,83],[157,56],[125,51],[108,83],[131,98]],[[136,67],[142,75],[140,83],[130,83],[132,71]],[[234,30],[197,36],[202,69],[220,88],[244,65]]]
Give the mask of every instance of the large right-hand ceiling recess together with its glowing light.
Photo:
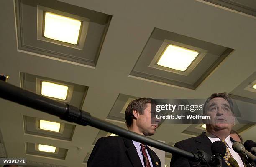
[[[129,77],[195,90],[232,51],[154,28]]]

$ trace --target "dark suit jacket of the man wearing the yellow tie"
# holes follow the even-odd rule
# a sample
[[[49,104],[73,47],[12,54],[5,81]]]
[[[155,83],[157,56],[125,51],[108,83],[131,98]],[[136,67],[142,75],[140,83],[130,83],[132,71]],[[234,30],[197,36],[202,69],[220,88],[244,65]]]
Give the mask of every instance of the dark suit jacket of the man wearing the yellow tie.
[[[197,137],[192,137],[192,138],[177,142],[174,145],[174,147],[178,147],[182,150],[186,150],[188,152],[193,152],[193,153],[197,153],[198,150],[202,150],[207,154],[212,155],[212,149],[211,149],[212,142],[205,135],[205,133],[206,132],[202,132],[202,134]],[[231,142],[235,142],[231,137],[230,137],[230,140]],[[196,164],[197,162],[189,161],[188,159],[180,157],[179,155],[172,155],[170,167],[192,167],[192,165],[196,165]],[[223,165],[222,167],[228,167],[225,160],[222,160],[222,165]],[[202,167],[202,165],[198,165],[196,167]]]

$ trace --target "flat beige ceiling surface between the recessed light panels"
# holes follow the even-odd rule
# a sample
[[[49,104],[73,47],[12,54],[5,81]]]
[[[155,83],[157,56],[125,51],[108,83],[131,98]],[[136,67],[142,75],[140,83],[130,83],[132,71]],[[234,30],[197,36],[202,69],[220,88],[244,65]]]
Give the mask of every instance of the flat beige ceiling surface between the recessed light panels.
[[[113,16],[96,68],[18,51],[14,2],[1,0],[0,73],[9,75],[8,82],[16,86],[20,86],[20,72],[88,86],[82,110],[100,119],[106,119],[119,94],[153,98],[206,98],[214,92],[232,92],[256,71],[256,17],[251,15],[200,0],[59,1]],[[155,27],[235,51],[196,90],[128,77]],[[23,115],[65,123],[57,117],[0,99],[1,142],[8,157],[26,157],[34,167],[44,163],[53,164],[52,167],[86,166],[82,162],[92,151],[99,130],[77,125],[72,141],[24,135]],[[124,123],[112,123],[125,127]],[[192,137],[181,133],[187,127],[189,125],[163,124],[153,138],[175,143]],[[241,135],[244,140],[256,140],[255,131],[254,125]],[[26,155],[26,142],[42,142],[68,149],[66,159]],[[78,150],[77,147],[82,149]]]

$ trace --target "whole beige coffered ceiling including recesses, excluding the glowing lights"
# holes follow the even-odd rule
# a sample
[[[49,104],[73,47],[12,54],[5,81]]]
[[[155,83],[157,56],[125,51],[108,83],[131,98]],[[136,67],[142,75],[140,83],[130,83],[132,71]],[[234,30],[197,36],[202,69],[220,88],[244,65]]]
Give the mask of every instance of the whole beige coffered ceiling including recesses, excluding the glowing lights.
[[[120,127],[125,106],[137,97],[205,99],[216,92],[229,93],[256,122],[256,2],[222,1],[1,0],[0,73],[35,93],[38,80],[71,85],[72,96],[60,102]],[[42,37],[40,10],[88,22],[80,45]],[[153,60],[168,42],[202,57],[190,71],[158,67]],[[0,106],[0,157],[26,157],[26,167],[84,167],[97,138],[111,135],[4,99]],[[64,127],[61,133],[38,130],[40,119]],[[254,123],[236,130],[244,141],[256,140]],[[152,138],[174,145],[202,131],[200,125],[166,123]],[[58,151],[40,153],[38,144]],[[166,153],[166,165],[170,158]]]

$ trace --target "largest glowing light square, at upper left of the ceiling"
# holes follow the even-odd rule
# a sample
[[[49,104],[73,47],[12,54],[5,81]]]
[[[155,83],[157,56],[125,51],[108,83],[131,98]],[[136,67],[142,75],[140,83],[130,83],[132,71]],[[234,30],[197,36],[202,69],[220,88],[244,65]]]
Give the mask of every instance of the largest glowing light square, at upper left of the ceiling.
[[[76,45],[81,21],[69,17],[45,13],[44,37]]]

